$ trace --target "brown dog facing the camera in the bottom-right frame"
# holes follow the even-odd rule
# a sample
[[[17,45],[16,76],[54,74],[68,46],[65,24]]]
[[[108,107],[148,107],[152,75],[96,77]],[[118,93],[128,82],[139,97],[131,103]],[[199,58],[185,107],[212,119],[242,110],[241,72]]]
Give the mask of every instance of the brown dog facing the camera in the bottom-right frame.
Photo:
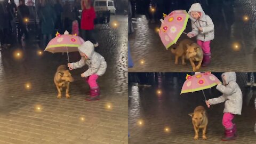
[[[198,139],[199,129],[203,129],[203,139],[206,140],[207,138],[205,133],[206,133],[206,128],[208,124],[208,118],[207,118],[207,113],[204,107],[198,106],[195,108],[194,113],[190,113],[188,115],[192,117],[192,123],[195,130],[194,140]]]

